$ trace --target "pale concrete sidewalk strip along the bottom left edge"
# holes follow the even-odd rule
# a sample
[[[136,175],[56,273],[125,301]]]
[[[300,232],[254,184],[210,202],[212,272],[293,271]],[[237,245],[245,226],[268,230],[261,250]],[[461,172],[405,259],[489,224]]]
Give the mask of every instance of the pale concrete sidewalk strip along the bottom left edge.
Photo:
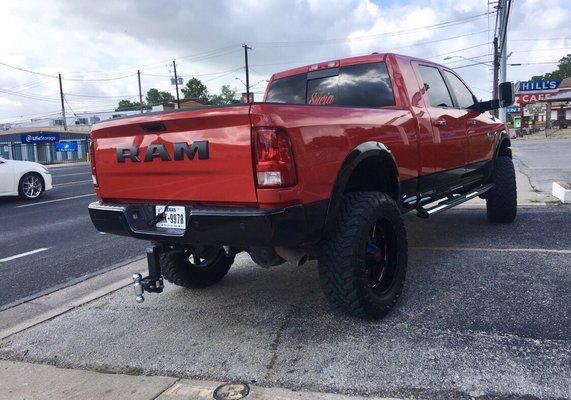
[[[0,360],[0,400],[211,400],[225,382],[107,374]],[[363,397],[248,385],[247,400],[359,400]],[[228,397],[239,399],[241,397]],[[368,397],[368,400],[381,400]]]

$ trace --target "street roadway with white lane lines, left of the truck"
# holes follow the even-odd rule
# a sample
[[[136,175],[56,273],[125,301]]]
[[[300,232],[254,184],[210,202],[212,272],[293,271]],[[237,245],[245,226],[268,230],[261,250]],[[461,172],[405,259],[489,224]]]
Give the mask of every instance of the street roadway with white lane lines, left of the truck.
[[[0,198],[0,260],[38,251],[0,263],[0,310],[143,255],[143,242],[100,234],[91,224],[88,165],[50,171],[54,189],[38,200]]]

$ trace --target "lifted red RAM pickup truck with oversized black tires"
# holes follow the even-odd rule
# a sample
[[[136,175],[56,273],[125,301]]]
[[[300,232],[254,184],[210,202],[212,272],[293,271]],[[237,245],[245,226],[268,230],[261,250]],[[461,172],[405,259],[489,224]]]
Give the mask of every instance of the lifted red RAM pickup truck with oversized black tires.
[[[379,318],[401,294],[401,214],[473,197],[492,222],[516,216],[506,126],[450,68],[397,54],[323,62],[272,76],[261,103],[99,123],[91,133],[103,232],[152,242],[137,300],[163,277],[219,282],[242,251],[261,266],[317,259],[336,309]]]

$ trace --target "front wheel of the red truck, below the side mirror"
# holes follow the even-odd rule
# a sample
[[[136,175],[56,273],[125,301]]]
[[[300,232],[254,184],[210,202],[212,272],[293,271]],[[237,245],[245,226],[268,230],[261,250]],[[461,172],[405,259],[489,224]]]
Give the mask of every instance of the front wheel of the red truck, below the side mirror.
[[[513,161],[508,156],[494,160],[494,188],[486,193],[486,211],[491,222],[512,222],[517,214],[517,188]]]

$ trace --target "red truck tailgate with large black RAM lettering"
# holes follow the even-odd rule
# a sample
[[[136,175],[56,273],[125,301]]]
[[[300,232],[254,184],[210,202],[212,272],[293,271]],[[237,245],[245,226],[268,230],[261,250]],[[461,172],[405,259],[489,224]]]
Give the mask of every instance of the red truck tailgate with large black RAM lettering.
[[[249,110],[208,107],[95,125],[99,197],[255,203]]]

